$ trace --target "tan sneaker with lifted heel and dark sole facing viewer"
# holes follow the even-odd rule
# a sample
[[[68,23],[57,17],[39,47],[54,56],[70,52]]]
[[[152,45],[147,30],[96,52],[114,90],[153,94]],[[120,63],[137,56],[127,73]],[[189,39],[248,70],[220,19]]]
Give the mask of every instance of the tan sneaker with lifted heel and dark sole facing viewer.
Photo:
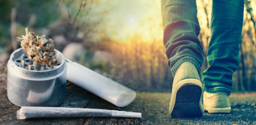
[[[173,117],[197,117],[203,115],[202,83],[196,66],[184,62],[174,75],[169,112]]]

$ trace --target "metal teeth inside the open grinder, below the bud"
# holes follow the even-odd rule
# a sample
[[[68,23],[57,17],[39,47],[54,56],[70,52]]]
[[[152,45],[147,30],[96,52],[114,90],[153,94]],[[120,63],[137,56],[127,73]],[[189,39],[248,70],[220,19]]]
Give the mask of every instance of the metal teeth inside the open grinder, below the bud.
[[[50,69],[54,69],[55,67],[55,66],[37,64],[36,62],[31,61],[29,59],[29,56],[25,54],[22,54],[21,57],[18,57],[17,59],[15,59],[15,64],[27,70],[37,70],[37,71],[50,70]]]

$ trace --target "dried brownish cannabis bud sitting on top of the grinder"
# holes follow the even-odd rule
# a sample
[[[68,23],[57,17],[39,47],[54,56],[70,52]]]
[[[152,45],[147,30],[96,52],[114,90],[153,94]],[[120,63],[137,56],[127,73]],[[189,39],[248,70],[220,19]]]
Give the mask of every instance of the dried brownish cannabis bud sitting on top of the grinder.
[[[27,28],[25,31],[26,35],[17,37],[16,40],[21,41],[21,47],[27,52],[30,60],[41,65],[57,65],[53,39],[46,39],[45,35],[38,36],[34,32],[28,32]]]

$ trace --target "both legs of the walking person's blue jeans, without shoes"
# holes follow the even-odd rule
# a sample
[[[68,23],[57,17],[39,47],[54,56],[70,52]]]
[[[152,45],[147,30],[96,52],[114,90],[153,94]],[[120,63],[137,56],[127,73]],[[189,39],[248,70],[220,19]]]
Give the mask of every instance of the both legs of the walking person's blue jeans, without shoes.
[[[213,0],[209,67],[202,80],[208,93],[231,93],[232,76],[239,66],[244,0]],[[196,0],[162,0],[165,54],[173,76],[183,62],[192,62],[200,74],[203,47],[198,40]]]

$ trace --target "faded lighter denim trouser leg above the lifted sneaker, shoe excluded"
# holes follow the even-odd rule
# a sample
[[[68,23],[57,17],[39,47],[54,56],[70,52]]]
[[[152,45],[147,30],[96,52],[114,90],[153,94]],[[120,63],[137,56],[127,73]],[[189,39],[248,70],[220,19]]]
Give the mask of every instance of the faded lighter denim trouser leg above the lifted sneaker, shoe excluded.
[[[165,54],[172,75],[183,62],[192,62],[200,73],[202,45],[198,40],[196,0],[162,0]]]

